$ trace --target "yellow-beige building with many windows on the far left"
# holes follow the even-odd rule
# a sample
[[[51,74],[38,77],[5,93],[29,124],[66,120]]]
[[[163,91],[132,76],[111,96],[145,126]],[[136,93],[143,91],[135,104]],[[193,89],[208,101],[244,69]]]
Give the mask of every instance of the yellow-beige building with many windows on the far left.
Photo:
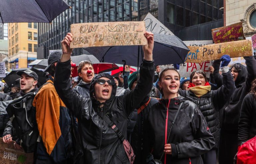
[[[37,58],[37,23],[8,23],[7,69],[27,68]]]

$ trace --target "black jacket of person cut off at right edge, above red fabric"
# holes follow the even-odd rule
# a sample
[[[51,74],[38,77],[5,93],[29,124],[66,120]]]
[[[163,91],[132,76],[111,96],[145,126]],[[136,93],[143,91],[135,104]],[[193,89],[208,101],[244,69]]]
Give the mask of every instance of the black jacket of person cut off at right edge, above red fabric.
[[[238,145],[256,135],[256,99],[251,93],[243,100],[239,124],[238,124]]]

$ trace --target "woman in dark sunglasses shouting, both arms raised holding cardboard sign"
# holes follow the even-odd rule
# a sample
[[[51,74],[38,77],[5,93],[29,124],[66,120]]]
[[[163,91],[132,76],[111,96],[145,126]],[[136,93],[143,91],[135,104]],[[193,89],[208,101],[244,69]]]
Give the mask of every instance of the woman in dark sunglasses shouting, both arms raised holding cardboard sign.
[[[144,35],[148,42],[143,46],[145,55],[140,67],[140,79],[135,89],[123,96],[115,96],[117,86],[114,78],[106,73],[96,75],[91,81],[90,98],[75,93],[69,79],[72,34],[68,33],[61,42],[63,53],[56,66],[54,86],[62,101],[78,119],[76,149],[80,147],[83,156],[79,152],[76,152],[76,156],[82,158],[82,163],[130,163],[121,142],[121,134],[115,130],[119,129],[123,136],[127,135],[128,115],[152,88],[154,37],[151,32],[145,32]],[[112,126],[106,117],[113,122]]]

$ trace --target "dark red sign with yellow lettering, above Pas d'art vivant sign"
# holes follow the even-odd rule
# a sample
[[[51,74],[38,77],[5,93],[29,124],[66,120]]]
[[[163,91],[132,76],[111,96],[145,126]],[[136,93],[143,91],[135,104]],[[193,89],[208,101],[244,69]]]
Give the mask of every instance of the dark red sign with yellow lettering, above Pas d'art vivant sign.
[[[245,37],[242,22],[212,29],[212,38],[214,43],[244,40]]]

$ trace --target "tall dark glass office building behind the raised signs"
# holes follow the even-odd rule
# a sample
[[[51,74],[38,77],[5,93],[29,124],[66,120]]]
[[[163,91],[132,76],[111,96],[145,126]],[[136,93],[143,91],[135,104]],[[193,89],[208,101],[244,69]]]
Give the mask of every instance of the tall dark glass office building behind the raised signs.
[[[61,40],[73,23],[142,21],[150,12],[175,33],[186,27],[222,20],[223,15],[220,10],[223,0],[67,0],[67,3],[72,9],[60,14],[52,24],[39,23],[38,58],[48,57],[49,50],[61,49]],[[175,35],[179,37],[178,33]],[[74,55],[82,53],[81,48],[73,51]]]

